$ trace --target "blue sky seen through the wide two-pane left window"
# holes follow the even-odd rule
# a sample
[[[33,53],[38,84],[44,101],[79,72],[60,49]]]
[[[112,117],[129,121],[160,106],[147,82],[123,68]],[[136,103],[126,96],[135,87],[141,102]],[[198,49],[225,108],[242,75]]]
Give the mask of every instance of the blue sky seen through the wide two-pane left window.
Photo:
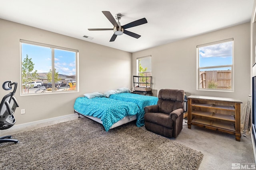
[[[52,69],[52,49],[50,47],[22,43],[22,61],[26,55],[28,58],[32,58],[34,70],[37,70],[37,73],[46,73]],[[54,67],[59,74],[76,74],[76,53],[55,49]]]

